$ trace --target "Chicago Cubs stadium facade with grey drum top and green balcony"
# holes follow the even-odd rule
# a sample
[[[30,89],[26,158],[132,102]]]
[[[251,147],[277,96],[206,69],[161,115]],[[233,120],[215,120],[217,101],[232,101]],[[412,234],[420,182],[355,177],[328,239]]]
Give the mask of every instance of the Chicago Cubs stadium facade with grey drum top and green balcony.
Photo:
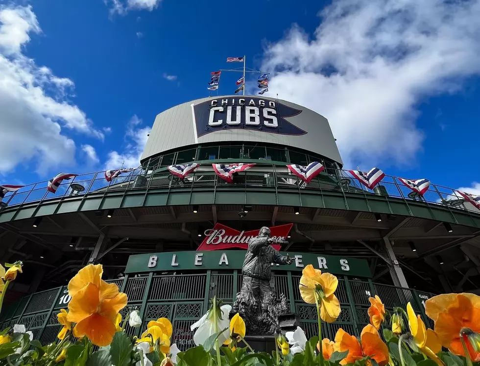
[[[287,167],[313,162],[323,171],[308,182]],[[169,170],[192,163],[199,165],[183,179]],[[229,176],[231,164],[249,169]],[[307,264],[339,278],[342,313],[324,324],[331,339],[340,326],[359,333],[374,294],[389,309],[410,301],[422,313],[432,294],[478,293],[475,202],[434,184],[419,194],[388,175],[370,189],[342,169],[329,122],[300,105],[224,96],[170,108],[156,117],[134,171],[111,181],[103,171],[81,174],[56,193],[40,182],[5,195],[1,258],[22,260],[24,273],[7,293],[2,328],[24,324],[53,341],[68,281],[101,263],[145,322],[170,318],[173,341],[186,347],[209,298],[234,301],[246,238],[262,226],[289,241],[279,249],[295,261],[273,267],[271,286],[307,334],[316,324],[298,290]]]

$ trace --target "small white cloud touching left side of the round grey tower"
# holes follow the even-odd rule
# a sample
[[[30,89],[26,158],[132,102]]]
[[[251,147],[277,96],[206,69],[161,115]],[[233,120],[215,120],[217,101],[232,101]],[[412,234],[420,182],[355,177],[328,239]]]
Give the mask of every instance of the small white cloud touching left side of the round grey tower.
[[[110,151],[105,169],[136,168],[140,165],[140,157],[144,151],[151,127],[142,127],[142,120],[133,116],[127,124],[125,133],[126,146],[123,152]]]

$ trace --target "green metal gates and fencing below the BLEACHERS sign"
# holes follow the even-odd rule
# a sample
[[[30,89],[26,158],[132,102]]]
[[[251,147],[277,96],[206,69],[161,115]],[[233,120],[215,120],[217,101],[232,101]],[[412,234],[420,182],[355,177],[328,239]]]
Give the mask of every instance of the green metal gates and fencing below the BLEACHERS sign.
[[[298,290],[300,276],[298,272],[282,272],[275,274],[272,284],[277,293],[284,293],[292,312],[300,317],[301,326],[308,337],[317,332],[317,314],[314,305],[306,304]],[[367,309],[370,306],[368,297],[375,294],[383,300],[386,309],[393,310],[400,306],[406,308],[407,303],[425,316],[422,301],[432,297],[431,293],[413,289],[398,288],[389,285],[372,283],[370,280],[352,279],[347,276],[338,277],[336,296],[342,311],[335,323],[322,323],[323,335],[331,340],[335,338],[338,328],[360,335],[364,325],[369,322]],[[163,274],[127,275],[115,282],[120,291],[128,295],[128,305],[122,310],[123,317],[132,309],[140,311],[144,326],[135,329],[126,327],[126,332],[139,336],[146,323],[159,317],[167,317],[173,324],[172,342],[180,349],[193,345],[193,332],[190,326],[208,309],[208,301],[213,296],[224,300],[225,304],[233,304],[237,292],[240,291],[241,274],[237,270],[228,273],[216,273],[208,270],[203,274]],[[24,324],[33,332],[34,338],[47,344],[56,339],[61,329],[56,315],[61,308],[67,308],[70,296],[66,286],[33,293],[16,303],[5,306],[0,315],[0,328]],[[432,324],[431,324],[432,325]]]

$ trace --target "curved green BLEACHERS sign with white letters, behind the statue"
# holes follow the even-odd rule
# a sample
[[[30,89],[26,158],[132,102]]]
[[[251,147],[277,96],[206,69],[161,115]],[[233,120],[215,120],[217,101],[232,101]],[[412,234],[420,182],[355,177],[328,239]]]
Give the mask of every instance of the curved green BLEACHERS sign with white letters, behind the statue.
[[[281,252],[287,255],[286,252]],[[291,266],[273,265],[275,270],[301,271],[311,264],[314,268],[333,274],[371,277],[368,262],[363,259],[313,253],[288,252],[295,258]],[[191,269],[241,269],[245,251],[184,251],[131,255],[125,273]]]

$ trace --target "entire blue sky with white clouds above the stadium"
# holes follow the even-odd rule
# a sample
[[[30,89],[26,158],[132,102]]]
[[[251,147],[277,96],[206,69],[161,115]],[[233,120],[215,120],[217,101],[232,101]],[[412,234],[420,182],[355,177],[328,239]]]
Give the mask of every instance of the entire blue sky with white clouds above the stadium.
[[[346,168],[480,194],[479,17],[480,0],[0,0],[1,182],[138,164],[156,114],[245,54],[270,95],[329,119]]]

